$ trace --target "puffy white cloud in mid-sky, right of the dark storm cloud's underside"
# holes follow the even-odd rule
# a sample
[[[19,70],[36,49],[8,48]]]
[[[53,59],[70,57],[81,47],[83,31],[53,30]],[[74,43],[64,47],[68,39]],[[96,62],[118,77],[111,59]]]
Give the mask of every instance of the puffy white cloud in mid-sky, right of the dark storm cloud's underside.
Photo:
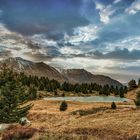
[[[64,40],[65,43],[69,42],[73,45],[80,45],[81,42],[88,42],[98,38],[98,31],[99,27],[92,24],[84,27],[77,27],[74,29],[74,35],[68,36],[67,34],[65,34]]]

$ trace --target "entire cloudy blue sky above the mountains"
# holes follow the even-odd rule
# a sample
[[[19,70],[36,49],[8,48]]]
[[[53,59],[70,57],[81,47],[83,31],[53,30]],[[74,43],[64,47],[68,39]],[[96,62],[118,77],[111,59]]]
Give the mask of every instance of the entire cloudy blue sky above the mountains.
[[[140,0],[0,0],[0,59],[140,77]]]

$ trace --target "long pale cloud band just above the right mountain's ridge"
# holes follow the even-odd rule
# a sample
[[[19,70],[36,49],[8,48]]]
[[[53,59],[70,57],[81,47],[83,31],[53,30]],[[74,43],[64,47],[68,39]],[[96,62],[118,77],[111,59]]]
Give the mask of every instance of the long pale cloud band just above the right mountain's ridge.
[[[116,66],[116,63],[112,60],[97,60],[93,58],[85,57],[73,57],[73,58],[53,58],[50,61],[51,65],[61,66],[61,68],[84,68],[88,70],[95,69],[98,72],[105,72],[106,66]]]

